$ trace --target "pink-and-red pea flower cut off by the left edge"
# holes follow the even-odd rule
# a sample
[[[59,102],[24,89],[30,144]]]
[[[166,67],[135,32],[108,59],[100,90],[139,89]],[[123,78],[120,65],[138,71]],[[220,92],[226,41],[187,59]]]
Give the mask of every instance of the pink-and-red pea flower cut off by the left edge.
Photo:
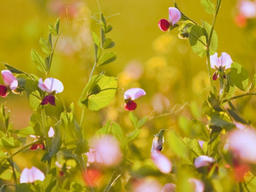
[[[0,84],[0,96],[6,97],[10,90],[15,90],[18,87],[18,81],[16,77],[13,76],[12,72],[10,70],[2,70],[1,71],[4,84]]]

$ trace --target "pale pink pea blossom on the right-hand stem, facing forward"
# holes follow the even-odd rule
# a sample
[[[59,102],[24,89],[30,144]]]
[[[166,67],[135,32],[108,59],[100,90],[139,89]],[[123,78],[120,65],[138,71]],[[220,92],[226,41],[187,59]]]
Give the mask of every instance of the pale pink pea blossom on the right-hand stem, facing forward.
[[[222,52],[221,56],[218,58],[218,53],[215,52],[212,56],[210,56],[211,60],[211,68],[216,69],[216,72],[214,72],[212,79],[215,81],[220,77],[220,73],[223,73],[223,78],[226,78],[224,70],[231,67],[231,64],[233,63],[231,57],[227,52]]]

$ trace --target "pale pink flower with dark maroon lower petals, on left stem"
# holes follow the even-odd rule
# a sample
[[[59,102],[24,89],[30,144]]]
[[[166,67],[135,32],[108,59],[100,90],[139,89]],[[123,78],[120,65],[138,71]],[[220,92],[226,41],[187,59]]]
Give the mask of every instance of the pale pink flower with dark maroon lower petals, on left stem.
[[[48,93],[48,95],[46,95],[42,100],[41,104],[42,105],[51,104],[52,106],[56,106],[54,95],[56,93],[63,92],[63,89],[64,89],[61,81],[58,79],[54,79],[52,77],[45,79],[45,81],[43,81],[42,78],[40,78],[38,81],[38,87],[42,91]]]

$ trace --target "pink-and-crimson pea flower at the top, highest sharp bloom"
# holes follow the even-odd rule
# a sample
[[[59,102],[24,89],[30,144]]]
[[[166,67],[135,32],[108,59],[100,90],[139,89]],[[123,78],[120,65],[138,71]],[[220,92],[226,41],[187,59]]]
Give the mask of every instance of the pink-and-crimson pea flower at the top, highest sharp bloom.
[[[169,8],[169,20],[160,19],[158,22],[158,26],[162,31],[167,31],[170,26],[174,26],[181,18],[181,13],[177,8],[170,7]]]

